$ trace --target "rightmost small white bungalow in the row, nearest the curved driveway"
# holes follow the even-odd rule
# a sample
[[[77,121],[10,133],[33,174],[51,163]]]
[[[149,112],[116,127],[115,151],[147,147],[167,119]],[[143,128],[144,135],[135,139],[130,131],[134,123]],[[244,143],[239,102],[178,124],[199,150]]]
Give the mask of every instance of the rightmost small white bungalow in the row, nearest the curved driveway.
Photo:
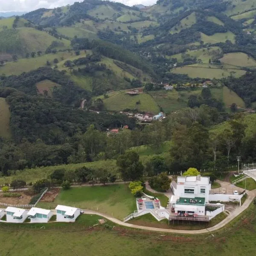
[[[74,222],[80,215],[80,209],[75,207],[57,205],[55,209],[57,221]]]

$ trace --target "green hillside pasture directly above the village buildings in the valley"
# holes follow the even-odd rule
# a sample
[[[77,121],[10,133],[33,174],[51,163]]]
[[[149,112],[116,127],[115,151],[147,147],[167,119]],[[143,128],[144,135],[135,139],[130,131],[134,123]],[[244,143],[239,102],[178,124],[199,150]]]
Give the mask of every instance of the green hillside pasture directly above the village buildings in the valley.
[[[136,104],[139,101],[140,104]],[[107,99],[103,99],[103,102],[105,109],[110,111],[122,111],[126,108],[152,113],[160,111],[154,99],[147,93],[131,96],[123,91],[115,92],[110,94]]]

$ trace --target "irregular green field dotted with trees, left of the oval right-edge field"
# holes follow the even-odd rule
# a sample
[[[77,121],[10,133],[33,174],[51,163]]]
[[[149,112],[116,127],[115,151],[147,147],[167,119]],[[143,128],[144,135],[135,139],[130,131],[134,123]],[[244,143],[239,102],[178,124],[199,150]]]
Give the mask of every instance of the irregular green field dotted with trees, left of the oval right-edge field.
[[[189,55],[192,58],[201,59],[203,63],[209,64],[209,58],[215,58],[215,56],[219,56],[221,52],[222,50],[220,47],[209,47],[186,52],[186,55]],[[178,53],[170,56],[169,58],[177,58],[177,61],[182,62],[182,56],[183,55],[181,53]]]

